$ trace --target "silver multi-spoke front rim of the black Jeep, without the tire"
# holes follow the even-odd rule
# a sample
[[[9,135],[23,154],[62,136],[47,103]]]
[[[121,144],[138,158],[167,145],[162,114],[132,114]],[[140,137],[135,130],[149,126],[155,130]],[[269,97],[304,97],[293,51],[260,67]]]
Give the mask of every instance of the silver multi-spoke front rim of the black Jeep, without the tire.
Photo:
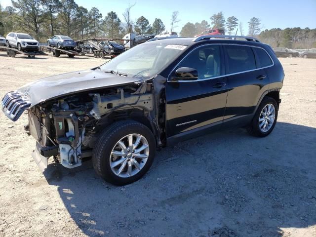
[[[127,178],[137,174],[149,157],[149,145],[140,134],[129,134],[121,138],[110,155],[110,166],[114,174]]]

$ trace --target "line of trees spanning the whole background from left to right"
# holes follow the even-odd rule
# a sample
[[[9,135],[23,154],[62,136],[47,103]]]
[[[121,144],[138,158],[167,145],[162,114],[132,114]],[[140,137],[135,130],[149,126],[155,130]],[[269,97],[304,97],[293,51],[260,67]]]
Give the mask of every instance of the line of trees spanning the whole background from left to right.
[[[128,4],[121,19],[116,12],[108,12],[105,16],[96,7],[90,10],[79,6],[75,0],[12,0],[12,6],[2,9],[0,5],[0,35],[8,32],[25,32],[37,40],[61,34],[76,40],[87,38],[121,39],[125,34],[159,34],[166,29],[162,20],[156,18],[150,24],[145,16],[137,20],[132,17],[134,4]],[[243,23],[237,17],[227,19],[224,13],[218,12],[201,22],[186,23],[181,31],[182,37],[194,37],[209,28],[225,30],[227,35],[244,35]],[[172,12],[170,29],[175,31],[180,22],[179,12]],[[249,19],[247,36],[257,37],[273,47],[311,48],[316,47],[316,29],[279,28],[261,31],[259,18]]]

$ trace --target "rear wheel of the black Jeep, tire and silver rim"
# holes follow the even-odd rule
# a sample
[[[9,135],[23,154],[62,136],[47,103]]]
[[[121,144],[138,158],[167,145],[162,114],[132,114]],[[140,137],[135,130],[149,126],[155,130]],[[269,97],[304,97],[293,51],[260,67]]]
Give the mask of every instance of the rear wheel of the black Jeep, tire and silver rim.
[[[268,136],[276,125],[277,112],[276,100],[269,96],[264,97],[247,127],[249,134],[255,137]]]

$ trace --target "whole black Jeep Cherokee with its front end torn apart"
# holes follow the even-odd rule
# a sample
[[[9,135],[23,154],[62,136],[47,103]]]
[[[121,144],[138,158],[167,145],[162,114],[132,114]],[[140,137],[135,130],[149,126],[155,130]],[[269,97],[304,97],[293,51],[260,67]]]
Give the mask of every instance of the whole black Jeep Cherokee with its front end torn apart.
[[[232,126],[265,137],[276,125],[282,66],[254,38],[218,37],[227,36],[140,44],[100,67],[9,92],[2,110],[13,121],[27,110],[42,170],[49,157],[73,168],[92,156],[116,185],[141,178],[157,149],[179,141]]]

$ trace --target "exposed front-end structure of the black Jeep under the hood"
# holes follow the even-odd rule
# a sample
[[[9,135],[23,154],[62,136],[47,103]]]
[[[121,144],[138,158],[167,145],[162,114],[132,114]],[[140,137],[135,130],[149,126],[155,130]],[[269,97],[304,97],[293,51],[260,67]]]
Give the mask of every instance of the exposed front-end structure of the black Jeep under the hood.
[[[147,124],[163,146],[164,119],[158,118],[164,105],[155,95],[154,83],[96,89],[42,102],[28,109],[25,130],[37,140],[32,157],[43,171],[53,157],[67,168],[91,157],[99,133],[116,120],[132,118]],[[156,105],[155,105],[156,104]]]

